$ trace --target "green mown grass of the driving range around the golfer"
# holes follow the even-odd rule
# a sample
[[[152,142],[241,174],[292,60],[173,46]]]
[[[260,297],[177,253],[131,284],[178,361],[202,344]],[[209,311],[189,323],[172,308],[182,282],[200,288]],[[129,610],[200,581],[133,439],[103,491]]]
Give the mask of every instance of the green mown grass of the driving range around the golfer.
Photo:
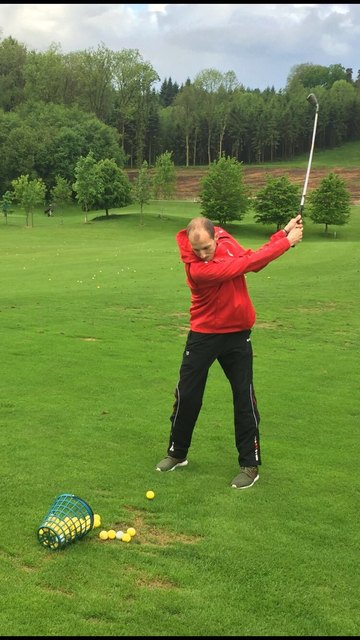
[[[217,364],[188,467],[155,471],[188,330],[174,236],[198,212],[0,220],[2,635],[359,634],[360,207],[328,235],[306,223],[300,246],[248,275],[263,455],[248,491],[229,486]],[[274,229],[249,216],[229,231],[256,248]],[[61,493],[137,535],[43,548]]]

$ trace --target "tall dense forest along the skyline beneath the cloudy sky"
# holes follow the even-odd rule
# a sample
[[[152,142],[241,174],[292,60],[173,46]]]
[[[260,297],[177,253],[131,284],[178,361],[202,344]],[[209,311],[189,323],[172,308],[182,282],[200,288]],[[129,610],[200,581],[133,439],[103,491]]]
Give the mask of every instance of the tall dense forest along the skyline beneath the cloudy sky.
[[[74,157],[76,162],[91,150],[97,159],[114,157],[119,166],[137,168],[144,159],[153,166],[165,151],[186,166],[210,164],[222,153],[245,163],[290,159],[309,148],[310,92],[320,104],[317,148],[360,138],[360,76],[353,80],[352,70],[341,64],[297,65],[279,92],[270,86],[250,90],[233,71],[216,69],[181,86],[169,79],[157,90],[159,81],[136,49],[114,52],[100,45],[63,54],[58,45],[36,52],[11,37],[3,40],[3,184],[15,177],[6,168],[14,155],[23,156],[22,164],[46,184],[62,174],[61,164],[69,173]],[[99,137],[108,142],[106,151]],[[0,175],[0,188],[1,180]]]

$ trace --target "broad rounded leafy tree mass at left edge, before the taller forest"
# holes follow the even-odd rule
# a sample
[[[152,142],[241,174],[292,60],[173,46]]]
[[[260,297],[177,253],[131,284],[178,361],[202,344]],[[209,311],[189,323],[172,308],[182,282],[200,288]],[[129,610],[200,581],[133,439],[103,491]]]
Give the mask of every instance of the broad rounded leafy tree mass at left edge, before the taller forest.
[[[10,113],[0,109],[0,148],[0,193],[19,175],[42,178],[48,191],[57,175],[72,182],[79,157],[89,151],[96,161],[114,158],[119,167],[125,164],[114,127],[78,107],[45,102],[23,103]]]

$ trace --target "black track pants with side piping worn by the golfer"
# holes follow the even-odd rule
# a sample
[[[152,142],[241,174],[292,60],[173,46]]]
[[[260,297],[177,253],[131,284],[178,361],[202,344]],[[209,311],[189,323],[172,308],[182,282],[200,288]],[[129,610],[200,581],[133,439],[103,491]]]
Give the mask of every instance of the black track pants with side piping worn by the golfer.
[[[202,406],[209,369],[218,360],[232,389],[239,464],[242,467],[261,464],[260,415],[253,388],[250,334],[251,331],[221,334],[189,332],[170,416],[168,455],[186,458]]]

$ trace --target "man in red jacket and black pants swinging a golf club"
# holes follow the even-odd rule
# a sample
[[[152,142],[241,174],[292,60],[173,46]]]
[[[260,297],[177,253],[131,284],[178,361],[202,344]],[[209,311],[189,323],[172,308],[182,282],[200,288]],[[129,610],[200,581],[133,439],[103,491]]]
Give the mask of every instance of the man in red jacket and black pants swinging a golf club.
[[[247,489],[259,479],[260,415],[250,338],[255,309],[245,274],[260,271],[297,245],[302,236],[300,214],[255,251],[244,249],[227,231],[204,217],[194,218],[177,234],[191,291],[190,331],[175,389],[167,456],[157,464],[157,471],[173,471],[188,464],[209,369],[218,360],[232,389],[240,465],[230,484],[235,489]]]

